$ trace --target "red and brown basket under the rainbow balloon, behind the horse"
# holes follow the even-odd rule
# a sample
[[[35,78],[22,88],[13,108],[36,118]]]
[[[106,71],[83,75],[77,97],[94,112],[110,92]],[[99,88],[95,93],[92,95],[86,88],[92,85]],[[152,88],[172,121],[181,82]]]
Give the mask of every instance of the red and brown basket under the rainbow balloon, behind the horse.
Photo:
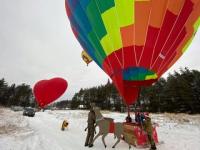
[[[137,123],[124,123],[124,138],[126,142],[136,147],[146,147],[149,145],[146,132]],[[156,131],[156,125],[153,125],[153,139],[157,144],[158,135]]]

